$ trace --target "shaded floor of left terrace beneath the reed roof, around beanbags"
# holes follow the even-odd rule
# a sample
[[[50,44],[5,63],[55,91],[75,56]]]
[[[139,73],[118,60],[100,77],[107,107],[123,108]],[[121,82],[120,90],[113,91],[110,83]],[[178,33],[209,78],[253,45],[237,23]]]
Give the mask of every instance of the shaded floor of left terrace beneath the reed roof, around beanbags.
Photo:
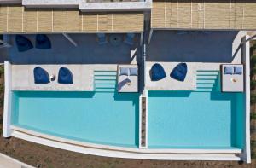
[[[32,43],[35,42],[35,35],[26,35],[26,37]],[[26,52],[18,52],[15,35],[9,35],[9,41],[13,45],[9,48],[9,61],[13,64],[130,64],[131,50],[139,46],[139,36],[133,46],[126,43],[113,46],[110,43],[99,45],[96,42],[96,34],[71,34],[70,37],[78,43],[77,47],[61,34],[50,34],[48,37],[52,49],[34,48]]]

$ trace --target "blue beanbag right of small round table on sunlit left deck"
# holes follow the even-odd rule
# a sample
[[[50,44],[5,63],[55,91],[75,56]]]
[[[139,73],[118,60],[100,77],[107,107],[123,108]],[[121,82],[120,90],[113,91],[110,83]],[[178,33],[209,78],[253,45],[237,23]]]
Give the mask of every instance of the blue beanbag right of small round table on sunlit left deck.
[[[73,84],[73,74],[67,67],[61,67],[59,70],[58,83]]]

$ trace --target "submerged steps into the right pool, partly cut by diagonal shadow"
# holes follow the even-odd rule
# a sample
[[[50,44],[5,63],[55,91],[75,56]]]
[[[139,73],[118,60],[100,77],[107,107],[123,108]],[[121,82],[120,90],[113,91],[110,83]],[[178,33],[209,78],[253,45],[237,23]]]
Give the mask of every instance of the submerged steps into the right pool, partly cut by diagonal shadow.
[[[197,71],[196,91],[211,92],[218,79],[218,71]]]

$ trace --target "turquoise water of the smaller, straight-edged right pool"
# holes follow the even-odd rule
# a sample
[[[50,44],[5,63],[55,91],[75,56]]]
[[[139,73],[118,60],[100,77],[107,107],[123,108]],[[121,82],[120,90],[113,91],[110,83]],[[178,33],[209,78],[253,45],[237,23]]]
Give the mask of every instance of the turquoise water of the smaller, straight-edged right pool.
[[[148,92],[148,148],[243,148],[242,93]]]

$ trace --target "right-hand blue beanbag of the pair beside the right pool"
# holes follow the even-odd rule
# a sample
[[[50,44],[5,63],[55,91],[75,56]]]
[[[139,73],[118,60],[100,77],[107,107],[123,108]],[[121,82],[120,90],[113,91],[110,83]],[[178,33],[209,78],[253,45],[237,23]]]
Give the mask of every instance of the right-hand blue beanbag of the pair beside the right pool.
[[[188,66],[186,63],[179,63],[173,68],[170,77],[183,82],[187,76]]]

